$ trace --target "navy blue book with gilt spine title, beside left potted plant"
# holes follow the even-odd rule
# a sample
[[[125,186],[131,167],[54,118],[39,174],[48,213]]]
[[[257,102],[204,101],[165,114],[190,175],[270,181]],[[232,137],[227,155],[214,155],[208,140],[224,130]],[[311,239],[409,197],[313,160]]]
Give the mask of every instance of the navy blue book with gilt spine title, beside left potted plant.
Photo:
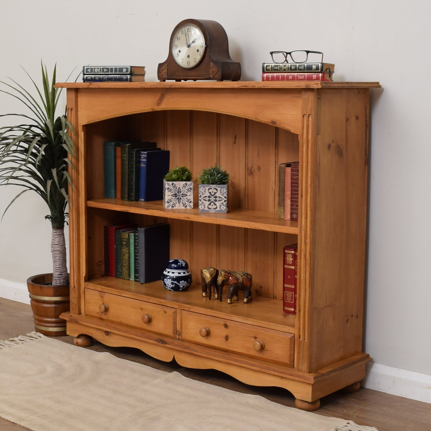
[[[169,171],[169,150],[139,152],[139,201],[163,199],[163,178]]]

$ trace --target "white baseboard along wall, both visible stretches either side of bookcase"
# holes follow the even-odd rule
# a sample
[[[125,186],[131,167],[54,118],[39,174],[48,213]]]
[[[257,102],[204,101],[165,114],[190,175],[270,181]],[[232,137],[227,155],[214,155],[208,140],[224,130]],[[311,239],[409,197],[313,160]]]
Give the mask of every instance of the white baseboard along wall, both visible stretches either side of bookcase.
[[[27,285],[0,278],[0,298],[30,304]],[[361,385],[399,397],[431,403],[431,375],[368,362]]]

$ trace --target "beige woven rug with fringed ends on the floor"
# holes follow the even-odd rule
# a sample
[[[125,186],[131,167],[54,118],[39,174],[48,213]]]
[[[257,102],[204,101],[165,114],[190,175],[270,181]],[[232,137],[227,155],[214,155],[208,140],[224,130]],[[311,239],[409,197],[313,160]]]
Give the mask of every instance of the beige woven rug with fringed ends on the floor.
[[[34,431],[376,430],[35,332],[0,341],[0,416]]]

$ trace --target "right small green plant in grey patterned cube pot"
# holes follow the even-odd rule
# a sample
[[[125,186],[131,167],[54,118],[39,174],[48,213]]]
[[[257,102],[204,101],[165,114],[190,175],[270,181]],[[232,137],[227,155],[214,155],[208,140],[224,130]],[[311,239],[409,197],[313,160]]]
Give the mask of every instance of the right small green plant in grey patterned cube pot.
[[[228,212],[228,172],[214,165],[202,169],[197,180],[199,212]]]

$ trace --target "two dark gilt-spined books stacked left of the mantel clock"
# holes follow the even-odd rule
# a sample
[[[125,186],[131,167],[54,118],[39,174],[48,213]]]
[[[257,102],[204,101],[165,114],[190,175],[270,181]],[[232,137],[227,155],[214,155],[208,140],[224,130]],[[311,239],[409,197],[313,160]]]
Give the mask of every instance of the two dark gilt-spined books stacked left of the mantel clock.
[[[84,66],[84,82],[144,82],[145,66]]]

